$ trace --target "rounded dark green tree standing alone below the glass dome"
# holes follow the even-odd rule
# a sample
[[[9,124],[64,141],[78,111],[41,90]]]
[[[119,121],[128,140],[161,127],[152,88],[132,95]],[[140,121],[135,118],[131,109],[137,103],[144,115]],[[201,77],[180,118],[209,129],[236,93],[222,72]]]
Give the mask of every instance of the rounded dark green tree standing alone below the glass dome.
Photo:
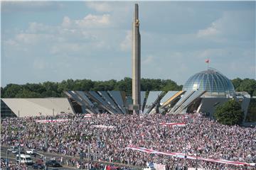
[[[244,118],[240,103],[231,99],[218,106],[214,113],[215,119],[224,125],[240,125]]]

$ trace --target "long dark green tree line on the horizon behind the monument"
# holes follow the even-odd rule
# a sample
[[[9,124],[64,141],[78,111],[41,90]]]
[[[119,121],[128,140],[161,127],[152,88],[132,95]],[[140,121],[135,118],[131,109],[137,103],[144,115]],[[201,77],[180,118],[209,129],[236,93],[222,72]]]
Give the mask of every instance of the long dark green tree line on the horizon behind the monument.
[[[255,79],[233,79],[236,91],[247,91],[256,96]],[[179,91],[182,85],[171,79],[142,79],[142,91]],[[125,91],[127,96],[132,95],[132,79],[125,77],[122,80],[92,81],[90,79],[68,79],[61,82],[46,81],[39,84],[7,84],[1,87],[1,98],[46,98],[65,97],[63,91]]]

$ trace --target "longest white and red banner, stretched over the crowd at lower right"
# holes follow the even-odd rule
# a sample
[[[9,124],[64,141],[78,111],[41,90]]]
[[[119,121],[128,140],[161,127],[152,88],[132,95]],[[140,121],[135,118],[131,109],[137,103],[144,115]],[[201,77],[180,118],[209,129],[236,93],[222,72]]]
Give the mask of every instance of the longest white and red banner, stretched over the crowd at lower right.
[[[185,154],[183,153],[177,153],[177,152],[159,152],[153,149],[146,149],[145,147],[135,147],[132,145],[129,145],[128,147],[126,147],[126,149],[132,149],[132,150],[136,150],[136,151],[140,151],[140,152],[146,152],[148,154],[164,154],[164,155],[168,155],[171,157],[178,157],[181,159],[185,158]],[[196,157],[192,157],[192,156],[188,156],[186,155],[187,159],[196,159]],[[249,164],[246,162],[231,162],[228,160],[224,160],[224,159],[207,159],[207,158],[203,158],[203,157],[198,157],[198,160],[202,160],[202,161],[206,161],[206,162],[217,162],[220,164],[233,164],[233,165],[238,165],[238,166],[255,166],[255,163]]]

